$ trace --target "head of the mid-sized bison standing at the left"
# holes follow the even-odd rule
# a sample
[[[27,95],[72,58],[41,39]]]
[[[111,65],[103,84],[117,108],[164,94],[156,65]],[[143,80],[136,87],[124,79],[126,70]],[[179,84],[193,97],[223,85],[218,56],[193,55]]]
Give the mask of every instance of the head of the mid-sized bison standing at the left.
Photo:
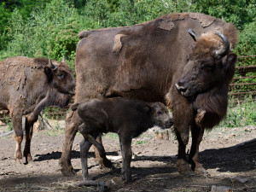
[[[44,67],[44,73],[46,73],[49,83],[52,84],[55,90],[61,94],[74,95],[75,80],[64,60],[53,62],[49,59],[48,66]]]

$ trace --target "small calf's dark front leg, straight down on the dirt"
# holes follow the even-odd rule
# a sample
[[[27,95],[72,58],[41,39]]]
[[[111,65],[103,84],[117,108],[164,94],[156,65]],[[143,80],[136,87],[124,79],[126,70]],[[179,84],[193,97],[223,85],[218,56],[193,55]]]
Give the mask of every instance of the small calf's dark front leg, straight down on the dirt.
[[[122,179],[131,182],[131,137],[119,136],[119,143],[122,154]]]

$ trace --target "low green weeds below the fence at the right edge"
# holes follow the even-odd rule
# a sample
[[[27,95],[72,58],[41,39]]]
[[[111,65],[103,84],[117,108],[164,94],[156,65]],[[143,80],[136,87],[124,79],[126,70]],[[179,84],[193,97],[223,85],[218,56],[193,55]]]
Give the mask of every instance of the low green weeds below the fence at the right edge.
[[[253,98],[247,97],[246,102],[236,102],[230,99],[226,118],[218,125],[225,127],[239,127],[256,125],[256,102]]]

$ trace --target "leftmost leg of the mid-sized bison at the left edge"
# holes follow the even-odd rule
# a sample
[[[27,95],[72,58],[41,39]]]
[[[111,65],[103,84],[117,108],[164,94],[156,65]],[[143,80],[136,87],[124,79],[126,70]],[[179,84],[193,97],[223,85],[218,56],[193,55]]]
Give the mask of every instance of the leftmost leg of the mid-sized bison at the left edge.
[[[17,163],[21,164],[22,161],[22,153],[21,153],[21,143],[23,140],[23,131],[22,131],[22,125],[21,125],[21,114],[15,114],[12,117],[13,127],[15,130],[15,142],[16,142],[16,148],[15,148],[15,160]]]

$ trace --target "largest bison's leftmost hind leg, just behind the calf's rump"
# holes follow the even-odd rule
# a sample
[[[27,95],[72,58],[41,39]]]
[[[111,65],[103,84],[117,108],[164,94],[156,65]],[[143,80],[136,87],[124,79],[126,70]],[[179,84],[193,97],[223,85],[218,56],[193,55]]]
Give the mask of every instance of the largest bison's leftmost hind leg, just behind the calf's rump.
[[[71,150],[73,145],[74,137],[78,132],[79,125],[82,124],[82,120],[79,118],[77,112],[70,112],[66,118],[66,131],[65,131],[65,141],[62,147],[62,154],[61,154],[61,172],[64,176],[72,176],[76,174],[73,171],[73,166],[71,164]]]

